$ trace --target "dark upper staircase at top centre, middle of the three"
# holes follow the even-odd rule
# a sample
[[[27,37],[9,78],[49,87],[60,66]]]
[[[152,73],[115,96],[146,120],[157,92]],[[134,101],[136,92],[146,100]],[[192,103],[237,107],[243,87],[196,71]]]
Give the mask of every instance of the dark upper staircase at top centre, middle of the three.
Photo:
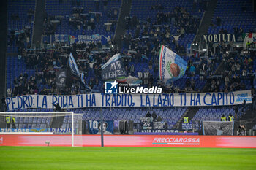
[[[125,33],[125,17],[129,16],[129,12],[132,6],[132,0],[122,0],[120,14],[118,18],[118,24],[116,26],[116,33],[113,42],[116,42],[118,47],[121,47],[120,36],[124,36]]]

